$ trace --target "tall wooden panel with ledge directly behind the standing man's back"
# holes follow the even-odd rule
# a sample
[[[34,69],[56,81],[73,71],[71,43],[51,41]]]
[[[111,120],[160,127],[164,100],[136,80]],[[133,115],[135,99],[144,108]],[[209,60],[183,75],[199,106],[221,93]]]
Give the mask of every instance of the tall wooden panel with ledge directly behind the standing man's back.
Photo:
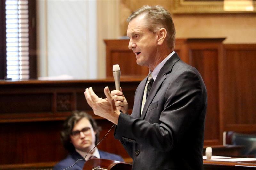
[[[207,89],[207,112],[204,145],[220,145],[222,129],[219,110],[219,70],[223,39],[189,39],[187,43],[188,64],[201,74]]]

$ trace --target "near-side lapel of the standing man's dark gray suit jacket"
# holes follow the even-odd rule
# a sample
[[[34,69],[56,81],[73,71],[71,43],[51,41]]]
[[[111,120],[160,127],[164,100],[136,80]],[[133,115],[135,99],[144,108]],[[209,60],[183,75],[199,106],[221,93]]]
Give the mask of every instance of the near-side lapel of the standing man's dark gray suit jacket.
[[[179,60],[180,60],[180,58],[177,55],[177,53],[174,53],[173,56],[161,68],[161,70],[159,71],[159,73],[156,77],[156,80],[154,81],[154,83],[151,87],[150,93],[149,93],[148,98],[145,102],[145,105],[144,105],[144,108],[143,108],[143,111],[142,111],[142,114],[141,114],[140,118],[145,119],[146,113],[148,111],[148,107],[152,103],[152,100],[156,96],[156,93],[160,89],[162,83],[166,79],[166,74],[168,74],[169,72],[172,71],[172,67]],[[141,99],[141,101],[142,101],[142,99]],[[141,107],[141,102],[140,102],[140,107]]]

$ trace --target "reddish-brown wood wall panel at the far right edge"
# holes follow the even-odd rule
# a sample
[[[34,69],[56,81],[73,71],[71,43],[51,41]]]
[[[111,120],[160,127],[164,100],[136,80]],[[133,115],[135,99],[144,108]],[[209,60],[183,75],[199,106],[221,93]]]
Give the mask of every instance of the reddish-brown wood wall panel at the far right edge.
[[[256,44],[230,44],[224,49],[224,131],[255,132]]]

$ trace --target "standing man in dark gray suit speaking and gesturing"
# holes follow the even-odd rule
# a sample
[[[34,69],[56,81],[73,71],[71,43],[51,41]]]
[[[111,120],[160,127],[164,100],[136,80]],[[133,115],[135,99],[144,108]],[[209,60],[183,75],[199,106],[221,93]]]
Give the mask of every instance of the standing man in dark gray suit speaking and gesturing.
[[[105,99],[87,88],[87,103],[117,125],[115,138],[132,157],[132,169],[202,170],[207,92],[199,72],[173,51],[171,14],[161,6],[143,6],[127,21],[129,48],[137,64],[149,68],[136,89],[132,114],[122,91],[110,93],[108,87]]]

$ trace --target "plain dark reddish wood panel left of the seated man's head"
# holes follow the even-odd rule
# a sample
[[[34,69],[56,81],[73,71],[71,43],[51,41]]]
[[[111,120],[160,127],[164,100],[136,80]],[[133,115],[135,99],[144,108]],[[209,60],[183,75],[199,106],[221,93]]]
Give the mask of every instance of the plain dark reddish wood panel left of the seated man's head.
[[[1,123],[1,164],[62,159],[65,156],[60,142],[62,124],[62,121]]]

